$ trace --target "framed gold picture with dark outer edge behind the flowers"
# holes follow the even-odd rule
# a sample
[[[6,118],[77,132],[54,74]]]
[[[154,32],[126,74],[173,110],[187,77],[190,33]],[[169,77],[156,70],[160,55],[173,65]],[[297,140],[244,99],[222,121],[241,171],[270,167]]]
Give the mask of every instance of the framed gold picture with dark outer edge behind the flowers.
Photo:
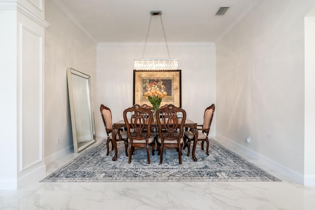
[[[174,104],[182,107],[181,70],[133,70],[133,104],[150,105],[148,96],[143,94],[144,87],[145,84],[157,80],[163,82],[167,92],[160,106]]]

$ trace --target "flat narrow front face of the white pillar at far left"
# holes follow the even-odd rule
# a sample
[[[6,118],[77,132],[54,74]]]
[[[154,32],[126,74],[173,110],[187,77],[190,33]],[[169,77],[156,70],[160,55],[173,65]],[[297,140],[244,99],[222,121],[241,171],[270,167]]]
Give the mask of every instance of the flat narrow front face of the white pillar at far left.
[[[0,8],[0,20],[6,20],[0,21],[0,29],[5,29],[0,33],[0,71],[5,78],[0,82],[0,189],[4,189],[4,182],[17,179],[17,10]]]

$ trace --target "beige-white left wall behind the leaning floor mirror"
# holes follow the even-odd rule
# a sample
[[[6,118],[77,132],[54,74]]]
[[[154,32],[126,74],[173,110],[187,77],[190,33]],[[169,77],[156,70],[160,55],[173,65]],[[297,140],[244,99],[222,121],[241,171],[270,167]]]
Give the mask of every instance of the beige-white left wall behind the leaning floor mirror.
[[[96,95],[96,43],[47,0],[45,20],[45,157],[71,146],[72,132],[66,68],[71,67],[91,76]],[[95,97],[94,97],[95,99]],[[97,107],[97,106],[96,106]],[[60,143],[57,145],[57,139]],[[71,149],[73,151],[73,149]]]

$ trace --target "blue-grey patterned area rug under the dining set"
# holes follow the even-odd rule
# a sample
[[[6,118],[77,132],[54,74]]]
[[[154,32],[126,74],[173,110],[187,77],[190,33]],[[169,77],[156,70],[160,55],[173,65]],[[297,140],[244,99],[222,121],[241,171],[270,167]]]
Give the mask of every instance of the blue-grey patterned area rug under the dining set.
[[[112,161],[114,151],[106,156],[106,140],[82,151],[73,159],[41,182],[106,182],[106,181],[281,181],[226,149],[214,139],[210,140],[209,156],[198,142],[194,162],[183,150],[182,165],[176,149],[165,148],[163,163],[151,153],[147,164],[144,148],[136,148],[131,163],[125,155],[124,142],[118,142],[118,158]],[[111,146],[110,146],[111,147]],[[191,146],[192,147],[192,146]],[[111,148],[110,148],[111,149]]]

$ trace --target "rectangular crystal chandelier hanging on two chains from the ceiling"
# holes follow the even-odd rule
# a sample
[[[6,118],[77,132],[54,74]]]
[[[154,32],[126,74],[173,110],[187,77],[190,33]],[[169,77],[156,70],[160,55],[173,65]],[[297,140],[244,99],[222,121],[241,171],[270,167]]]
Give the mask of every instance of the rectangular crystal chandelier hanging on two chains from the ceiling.
[[[165,31],[164,31],[164,26],[163,26],[162,17],[161,17],[162,11],[151,11],[150,13],[151,13],[151,18],[150,18],[150,23],[149,23],[146,41],[144,43],[142,57],[141,57],[141,59],[135,59],[134,60],[134,68],[136,70],[176,70],[178,67],[178,59],[171,59],[171,57],[169,55],[169,50],[168,50]],[[147,46],[152,16],[154,16],[154,15],[159,15],[160,20],[161,20],[162,30],[163,30],[167,54],[168,54],[168,59],[143,59],[144,52],[145,52],[145,49]]]

